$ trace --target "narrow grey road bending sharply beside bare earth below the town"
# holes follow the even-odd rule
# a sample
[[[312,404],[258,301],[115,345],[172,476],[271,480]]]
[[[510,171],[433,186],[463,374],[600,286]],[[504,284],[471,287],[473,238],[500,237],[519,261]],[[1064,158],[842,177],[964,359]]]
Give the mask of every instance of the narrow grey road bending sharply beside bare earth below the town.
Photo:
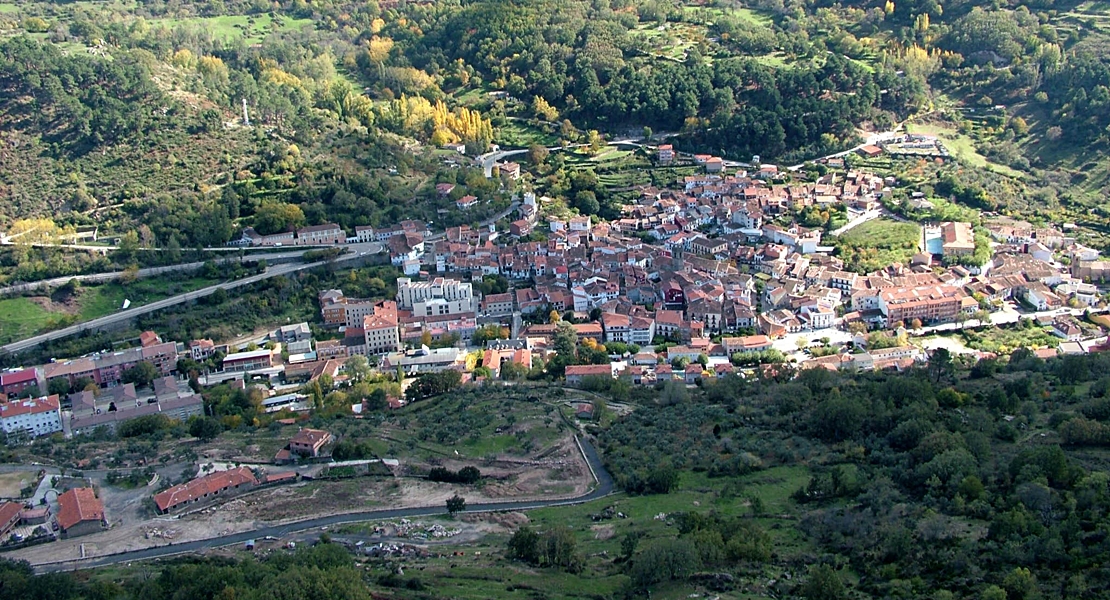
[[[583,502],[588,502],[596,500],[598,498],[604,498],[609,494],[613,494],[613,478],[609,476],[608,471],[602,465],[601,458],[597,456],[597,450],[586,441],[585,439],[575,438],[582,449],[583,456],[586,458],[586,464],[589,466],[591,474],[597,486],[583,496],[577,498],[572,498],[568,500],[537,500],[532,502],[488,502],[470,505],[465,512],[495,512],[501,510],[534,510],[537,508],[547,508],[553,506],[571,506],[581,505]],[[230,546],[233,543],[243,543],[246,540],[260,539],[266,536],[273,537],[284,537],[290,533],[297,531],[305,531],[309,529],[316,529],[321,527],[333,527],[336,525],[361,522],[361,521],[374,521],[381,519],[397,519],[397,518],[408,518],[408,517],[427,517],[432,515],[443,515],[444,508],[441,506],[436,507],[417,507],[417,508],[395,508],[395,509],[383,509],[383,510],[366,510],[362,512],[349,512],[344,515],[332,515],[330,517],[320,517],[315,519],[307,519],[304,521],[291,522],[285,525],[274,525],[270,527],[263,527],[254,529],[252,531],[242,531],[240,533],[232,533],[230,536],[221,536],[219,538],[211,538],[206,540],[186,541],[182,543],[171,543],[167,546],[159,546],[154,548],[144,548],[142,550],[131,550],[128,552],[120,552],[117,555],[109,555],[104,557],[90,558],[84,560],[70,560],[52,562],[49,565],[40,565],[34,569],[37,572],[57,572],[57,571],[70,571],[77,569],[92,569],[97,567],[105,567],[108,565],[117,565],[120,562],[133,562],[137,560],[151,560],[157,558],[170,557],[175,555],[183,555],[190,552],[199,552],[201,550],[210,550],[212,548],[220,548],[222,546]]]

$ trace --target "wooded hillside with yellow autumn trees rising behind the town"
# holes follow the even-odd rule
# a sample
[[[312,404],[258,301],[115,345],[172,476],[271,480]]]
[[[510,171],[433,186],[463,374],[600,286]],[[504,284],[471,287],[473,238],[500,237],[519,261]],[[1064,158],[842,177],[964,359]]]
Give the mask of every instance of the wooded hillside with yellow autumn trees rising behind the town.
[[[684,150],[800,162],[850,146],[861,126],[925,115],[1032,175],[983,182],[991,206],[1043,216],[1110,184],[1098,159],[1110,144],[1110,43],[1072,4],[13,6],[0,13],[3,217],[144,224],[151,247],[272,230],[266,209],[281,204],[303,213],[285,228],[478,221],[434,184],[482,200],[497,186],[435,148],[473,154],[522,128],[551,141],[647,128]],[[564,187],[576,207],[606,209],[605,186],[587,190],[597,207]]]

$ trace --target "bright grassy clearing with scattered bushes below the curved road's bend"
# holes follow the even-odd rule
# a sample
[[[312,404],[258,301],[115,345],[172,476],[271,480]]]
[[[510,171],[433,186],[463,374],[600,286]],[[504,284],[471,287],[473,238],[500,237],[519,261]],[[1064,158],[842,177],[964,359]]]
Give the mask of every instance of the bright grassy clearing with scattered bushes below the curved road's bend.
[[[674,538],[677,533],[670,516],[676,512],[717,512],[723,516],[750,518],[766,531],[774,551],[783,557],[775,563],[749,569],[738,577],[744,584],[725,593],[705,596],[720,599],[763,598],[744,591],[766,582],[768,577],[779,577],[789,558],[807,556],[814,545],[797,527],[798,506],[789,498],[806,485],[809,470],[804,467],[777,467],[739,478],[709,478],[704,474],[686,471],[677,491],[660,496],[627,496],[616,494],[581,506],[553,507],[527,512],[528,525],[537,531],[566,527],[575,536],[578,551],[585,558],[581,574],[568,574],[556,569],[531,568],[505,557],[506,535],[491,535],[474,542],[457,546],[462,556],[443,551],[444,558],[433,558],[422,563],[422,578],[435,581],[436,590],[462,599],[517,599],[529,590],[543,590],[543,598],[613,598],[618,597],[628,583],[628,577],[615,563],[622,553],[622,541],[629,532],[643,537],[639,548],[657,540]],[[733,490],[743,490],[735,494]],[[765,512],[750,515],[751,496],[758,496]],[[606,509],[624,517],[595,518]],[[664,518],[657,518],[664,515]],[[432,520],[432,519],[427,519]],[[450,521],[443,523],[451,527]],[[345,531],[345,530],[341,530]],[[448,545],[443,550],[454,550]],[[375,572],[383,566],[375,566]],[[652,598],[693,598],[705,588],[694,582],[663,583],[652,589]],[[524,594],[522,594],[522,592]],[[538,598],[538,596],[535,596]]]

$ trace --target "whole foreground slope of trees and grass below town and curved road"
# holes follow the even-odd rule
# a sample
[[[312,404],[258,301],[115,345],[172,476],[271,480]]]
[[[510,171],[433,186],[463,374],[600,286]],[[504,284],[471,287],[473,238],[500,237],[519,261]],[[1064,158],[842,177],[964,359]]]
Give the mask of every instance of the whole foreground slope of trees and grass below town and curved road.
[[[607,590],[598,598],[690,589],[807,600],[1103,598],[1108,360],[1041,360],[1020,349],[973,363],[937,352],[905,373],[779,365],[685,394],[637,391],[624,399],[629,414],[588,426],[623,494],[529,512],[531,525],[478,542],[482,561],[458,577],[596,581]],[[451,415],[473,410],[481,420],[487,396],[472,387],[422,400],[421,436],[471,435]],[[513,401],[525,400],[502,400]],[[345,444],[351,456],[370,451]],[[433,477],[473,481],[481,471]],[[635,518],[608,520],[613,539],[597,541],[613,507]],[[350,565],[347,550],[326,540],[269,558],[77,577],[32,578],[4,561],[0,598],[447,597],[436,583],[448,577],[445,562],[427,563],[427,573],[406,566],[400,580],[373,574],[392,572],[387,562],[367,562],[365,572]],[[790,572],[798,577],[779,577]]]

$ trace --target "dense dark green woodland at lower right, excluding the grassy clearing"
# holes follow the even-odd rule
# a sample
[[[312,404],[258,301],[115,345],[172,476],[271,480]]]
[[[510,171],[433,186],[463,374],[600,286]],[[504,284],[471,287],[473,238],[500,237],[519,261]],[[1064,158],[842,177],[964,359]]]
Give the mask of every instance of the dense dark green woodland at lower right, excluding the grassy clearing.
[[[645,481],[660,469],[726,482],[809,465],[793,490],[798,527],[819,548],[809,560],[844,560],[837,577],[858,576],[847,588],[859,597],[1101,598],[1110,592],[1108,360],[1045,362],[1019,349],[969,364],[941,350],[905,374],[729,376],[688,400],[635,410],[599,444],[633,494],[652,494]],[[761,557],[733,549],[731,536],[760,527],[750,520],[686,518],[698,520],[679,522],[677,539],[703,558],[676,578],[769,563],[780,551],[769,541]]]

